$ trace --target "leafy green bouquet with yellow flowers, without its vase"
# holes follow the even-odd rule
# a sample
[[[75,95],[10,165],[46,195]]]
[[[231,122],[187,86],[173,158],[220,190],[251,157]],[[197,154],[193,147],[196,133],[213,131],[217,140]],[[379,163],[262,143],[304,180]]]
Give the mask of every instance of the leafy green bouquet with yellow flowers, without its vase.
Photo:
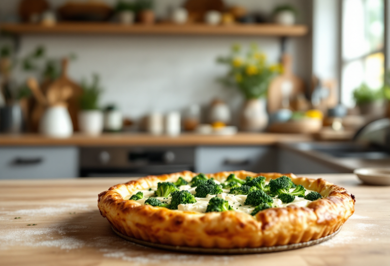
[[[235,45],[230,55],[218,57],[217,62],[229,67],[219,82],[226,87],[238,88],[246,99],[265,97],[270,81],[282,71],[280,64],[269,65],[266,55],[256,45],[251,45],[248,51]]]

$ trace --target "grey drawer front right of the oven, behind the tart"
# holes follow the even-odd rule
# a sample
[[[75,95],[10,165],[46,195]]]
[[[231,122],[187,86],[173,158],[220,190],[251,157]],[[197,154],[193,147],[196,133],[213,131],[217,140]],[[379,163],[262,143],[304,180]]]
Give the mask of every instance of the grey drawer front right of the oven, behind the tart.
[[[275,172],[276,150],[270,146],[197,147],[195,169],[201,173],[246,170]]]

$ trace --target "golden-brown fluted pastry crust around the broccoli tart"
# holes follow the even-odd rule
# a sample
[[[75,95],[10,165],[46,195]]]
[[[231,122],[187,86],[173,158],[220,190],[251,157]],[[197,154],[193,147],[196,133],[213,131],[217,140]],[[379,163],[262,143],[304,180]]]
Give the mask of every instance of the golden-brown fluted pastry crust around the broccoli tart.
[[[198,213],[170,210],[123,198],[156,187],[161,181],[175,182],[179,176],[188,180],[197,175],[184,171],[146,176],[112,186],[99,194],[99,210],[123,235],[152,243],[203,248],[255,248],[307,242],[334,233],[354,212],[354,196],[345,188],[321,178],[247,171],[206,176],[221,181],[232,173],[242,179],[262,175],[268,181],[286,175],[294,183],[320,193],[323,198],[307,207],[288,205],[266,209],[255,216],[236,211]]]

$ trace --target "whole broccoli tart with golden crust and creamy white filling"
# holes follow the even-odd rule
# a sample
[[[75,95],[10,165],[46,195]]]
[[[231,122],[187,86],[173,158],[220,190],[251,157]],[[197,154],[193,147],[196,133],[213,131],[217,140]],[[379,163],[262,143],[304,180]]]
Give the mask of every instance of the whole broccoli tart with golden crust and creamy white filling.
[[[354,196],[323,179],[247,171],[146,176],[99,194],[119,233],[152,243],[254,248],[328,236],[354,212]]]

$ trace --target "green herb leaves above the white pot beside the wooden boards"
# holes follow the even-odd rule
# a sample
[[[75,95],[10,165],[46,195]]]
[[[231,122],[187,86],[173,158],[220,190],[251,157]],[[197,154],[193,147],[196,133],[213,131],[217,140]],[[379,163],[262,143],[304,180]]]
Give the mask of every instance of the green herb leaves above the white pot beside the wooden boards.
[[[100,84],[98,74],[94,74],[92,82],[87,83],[85,80],[81,82],[83,94],[80,97],[80,107],[83,110],[97,110],[99,109],[99,98],[103,92]]]

